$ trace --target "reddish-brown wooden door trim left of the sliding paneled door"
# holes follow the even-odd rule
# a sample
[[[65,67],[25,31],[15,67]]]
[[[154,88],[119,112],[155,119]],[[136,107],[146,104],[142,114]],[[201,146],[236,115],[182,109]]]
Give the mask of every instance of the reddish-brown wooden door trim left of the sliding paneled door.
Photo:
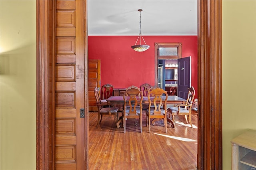
[[[54,1],[36,1],[36,169],[53,169],[53,9]]]

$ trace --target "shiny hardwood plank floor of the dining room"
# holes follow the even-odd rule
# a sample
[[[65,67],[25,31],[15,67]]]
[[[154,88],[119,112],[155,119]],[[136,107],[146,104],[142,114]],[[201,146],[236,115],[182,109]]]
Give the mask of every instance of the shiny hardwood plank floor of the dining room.
[[[193,128],[184,116],[175,116],[176,127],[167,124],[167,134],[163,121],[149,133],[145,116],[142,133],[130,119],[126,134],[122,126],[115,127],[113,115],[104,115],[96,128],[97,119],[98,112],[89,112],[90,170],[196,170],[197,115],[192,115]]]

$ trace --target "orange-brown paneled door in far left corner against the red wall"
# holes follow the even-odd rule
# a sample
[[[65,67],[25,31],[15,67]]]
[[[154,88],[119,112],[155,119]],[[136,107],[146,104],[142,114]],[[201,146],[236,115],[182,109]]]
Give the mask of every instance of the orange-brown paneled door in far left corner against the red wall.
[[[98,87],[100,92],[100,60],[89,59],[88,71],[88,109],[89,111],[98,111],[94,88]]]

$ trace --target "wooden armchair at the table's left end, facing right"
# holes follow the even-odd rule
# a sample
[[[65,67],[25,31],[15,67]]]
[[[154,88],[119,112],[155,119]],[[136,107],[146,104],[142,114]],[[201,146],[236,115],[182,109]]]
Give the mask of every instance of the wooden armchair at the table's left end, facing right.
[[[102,121],[102,116],[103,115],[114,115],[114,121],[115,121],[115,126],[116,122],[118,120],[118,110],[119,108],[114,107],[114,105],[107,105],[107,104],[102,104],[100,100],[100,93],[98,91],[98,88],[94,88],[94,95],[96,98],[97,106],[98,106],[98,121],[96,127],[98,127],[98,124],[101,123]],[[108,106],[108,107],[106,107]]]

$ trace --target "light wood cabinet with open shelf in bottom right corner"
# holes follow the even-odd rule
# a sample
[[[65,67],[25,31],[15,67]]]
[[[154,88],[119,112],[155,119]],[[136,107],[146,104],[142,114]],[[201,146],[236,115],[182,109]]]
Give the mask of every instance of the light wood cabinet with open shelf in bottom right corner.
[[[247,130],[232,143],[232,170],[256,169],[256,130]]]

